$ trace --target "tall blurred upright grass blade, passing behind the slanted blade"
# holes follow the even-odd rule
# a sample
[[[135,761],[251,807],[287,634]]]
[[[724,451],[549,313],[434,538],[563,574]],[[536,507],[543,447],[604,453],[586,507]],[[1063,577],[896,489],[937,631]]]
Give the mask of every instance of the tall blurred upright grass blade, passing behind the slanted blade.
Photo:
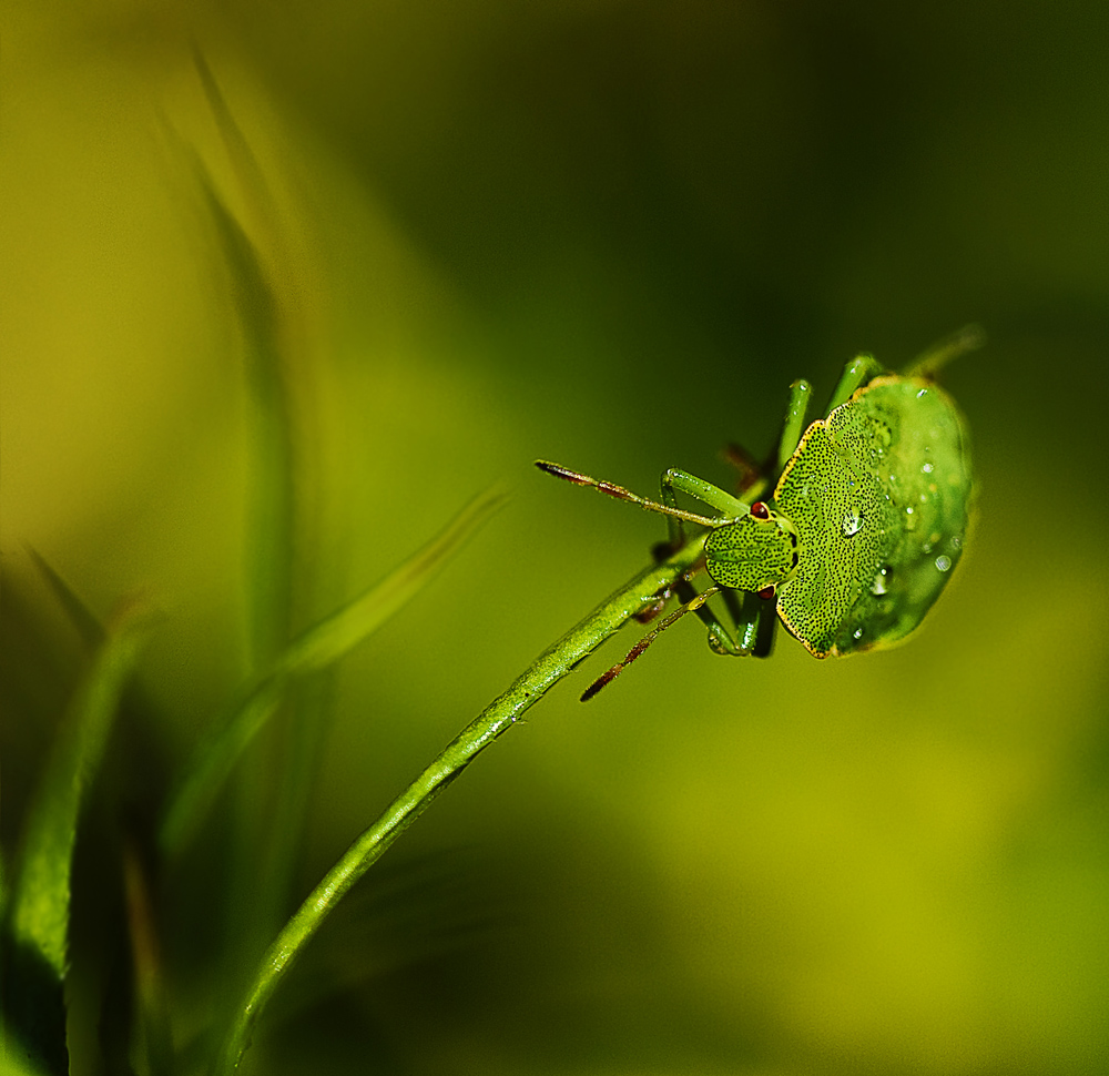
[[[193,61],[237,195],[235,203],[222,197],[208,170],[200,165],[243,328],[244,372],[253,404],[245,554],[250,671],[257,676],[305,623],[309,567],[317,564],[315,536],[298,496],[315,485],[312,453],[303,436],[311,416],[302,402],[312,397],[303,390],[309,368],[302,324],[306,295],[303,267],[291,254],[286,229],[250,141],[195,45]],[[257,941],[252,934],[268,937],[287,912],[292,849],[304,825],[313,762],[326,724],[321,719],[323,708],[314,712],[298,693],[272,699],[274,706],[279,700],[283,720],[269,721],[268,703],[255,707],[261,714],[256,728],[272,727],[268,761],[257,758],[242,769],[232,823],[237,852],[231,906],[250,911],[245,917],[232,913],[226,928],[246,948]],[[279,795],[273,794],[275,788],[282,790]]]

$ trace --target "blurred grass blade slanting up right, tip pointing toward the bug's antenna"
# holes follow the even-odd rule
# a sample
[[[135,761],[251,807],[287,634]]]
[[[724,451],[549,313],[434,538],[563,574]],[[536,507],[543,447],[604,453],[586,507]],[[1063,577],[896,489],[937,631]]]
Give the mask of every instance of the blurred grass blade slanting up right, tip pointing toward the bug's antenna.
[[[324,669],[376,631],[426,586],[505,501],[499,489],[481,494],[414,557],[295,639],[258,678],[197,755],[161,826],[163,853],[181,852],[206,815],[238,757],[281,703],[289,678]]]

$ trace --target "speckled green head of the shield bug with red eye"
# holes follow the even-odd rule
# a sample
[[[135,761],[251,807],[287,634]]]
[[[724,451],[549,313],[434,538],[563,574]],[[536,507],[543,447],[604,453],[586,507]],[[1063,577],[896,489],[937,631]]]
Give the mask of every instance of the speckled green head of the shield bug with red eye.
[[[733,590],[776,587],[797,569],[797,536],[792,524],[765,501],[746,516],[718,527],[704,546],[705,567],[714,582]]]

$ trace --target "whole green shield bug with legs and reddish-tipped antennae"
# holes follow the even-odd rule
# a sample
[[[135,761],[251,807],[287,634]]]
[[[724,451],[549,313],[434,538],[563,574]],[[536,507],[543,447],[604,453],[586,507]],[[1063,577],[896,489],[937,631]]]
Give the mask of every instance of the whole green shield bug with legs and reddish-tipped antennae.
[[[977,346],[964,331],[901,374],[868,355],[848,363],[824,418],[804,429],[811,388],[791,386],[776,457],[765,468],[744,465],[735,497],[682,470],[662,476],[662,504],[611,483],[538,461],[542,470],[630,500],[669,517],[670,546],[684,541],[682,521],[708,528],[704,566],[713,586],[696,593],[628,657],[596,681],[596,694],[686,612],[709,627],[719,653],[770,652],[773,602],[777,616],[817,658],[889,647],[919,625],[963,555],[970,499],[966,430],[952,398],[935,383],[950,357]],[[779,474],[771,496],[765,475]],[[676,494],[709,506],[703,516],[678,507]],[[705,602],[732,598],[735,630]],[[668,596],[662,596],[665,598]]]

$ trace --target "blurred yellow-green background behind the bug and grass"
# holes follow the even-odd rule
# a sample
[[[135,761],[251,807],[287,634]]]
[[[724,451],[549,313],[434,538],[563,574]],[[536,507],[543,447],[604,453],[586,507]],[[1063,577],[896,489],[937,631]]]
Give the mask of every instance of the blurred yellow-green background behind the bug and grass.
[[[722,446],[764,451],[794,377],[823,397],[857,351],[898,366],[978,321],[988,347],[945,378],[976,522],[919,635],[826,662],[783,635],[740,663],[683,625],[579,706],[617,640],[352,894],[246,1069],[1109,1069],[1103,3],[104,0],[3,23],[6,851],[80,664],[28,547],[103,619],[135,592],[161,610],[102,841],[258,644],[250,326],[201,176],[278,301],[292,627],[512,491],[306,690],[326,733],[297,900],[662,536],[532,459],[726,485]],[[241,826],[283,795],[265,750],[224,803]],[[166,883],[197,1026],[213,908],[251,917],[230,840],[215,823]],[[78,930],[108,885],[89,859]]]

